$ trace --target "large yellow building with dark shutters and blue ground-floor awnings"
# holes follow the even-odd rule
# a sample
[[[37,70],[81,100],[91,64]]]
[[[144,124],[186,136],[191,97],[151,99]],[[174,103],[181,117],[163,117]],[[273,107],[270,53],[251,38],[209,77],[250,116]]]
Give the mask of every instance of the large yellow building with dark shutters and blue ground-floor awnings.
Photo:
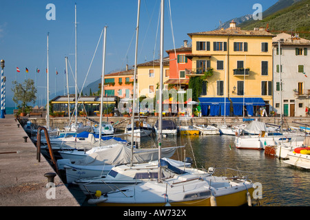
[[[203,76],[213,69],[199,98],[203,115],[258,115],[262,107],[269,112],[273,105],[273,34],[263,28],[240,30],[231,21],[226,30],[188,35],[193,46],[187,55],[192,59],[187,76]]]

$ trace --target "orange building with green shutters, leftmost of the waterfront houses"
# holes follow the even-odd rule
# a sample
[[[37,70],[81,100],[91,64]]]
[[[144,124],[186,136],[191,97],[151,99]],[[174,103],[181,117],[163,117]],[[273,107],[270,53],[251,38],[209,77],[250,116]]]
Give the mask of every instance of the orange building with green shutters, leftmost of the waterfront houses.
[[[119,98],[131,98],[134,89],[134,69],[105,75],[105,96],[118,96]]]

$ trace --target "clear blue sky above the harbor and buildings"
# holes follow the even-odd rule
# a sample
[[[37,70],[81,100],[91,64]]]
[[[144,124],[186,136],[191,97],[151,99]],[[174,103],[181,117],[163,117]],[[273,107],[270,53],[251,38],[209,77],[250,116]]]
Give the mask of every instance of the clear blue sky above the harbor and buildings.
[[[214,30],[219,21],[225,22],[245,14],[253,14],[253,5],[260,3],[267,10],[278,0],[170,0],[170,20],[167,0],[165,2],[164,50],[178,48],[188,40],[188,33]],[[56,9],[56,20],[48,21],[45,15],[48,3]],[[77,56],[78,85],[98,80],[102,72],[102,39],[90,68],[96,45],[107,25],[105,73],[134,65],[137,0],[1,0],[0,8],[0,59],[6,61],[6,107],[12,102],[12,81],[21,83],[32,78],[38,83],[38,104],[45,98],[47,63],[47,34],[50,49],[50,98],[65,88],[65,56],[68,56],[74,74],[74,4],[77,7]],[[138,43],[138,63],[152,61],[159,54],[158,16],[160,0],[141,0]],[[173,27],[173,34],[172,34]],[[156,37],[157,36],[157,37]],[[174,39],[174,43],[173,43]],[[165,54],[166,56],[167,54]],[[16,67],[21,70],[16,72]],[[29,73],[25,74],[25,67]],[[36,68],[40,73],[36,76]],[[88,69],[90,72],[85,79]],[[56,72],[59,74],[56,76]],[[74,86],[69,72],[70,87]],[[45,102],[43,101],[43,104]]]

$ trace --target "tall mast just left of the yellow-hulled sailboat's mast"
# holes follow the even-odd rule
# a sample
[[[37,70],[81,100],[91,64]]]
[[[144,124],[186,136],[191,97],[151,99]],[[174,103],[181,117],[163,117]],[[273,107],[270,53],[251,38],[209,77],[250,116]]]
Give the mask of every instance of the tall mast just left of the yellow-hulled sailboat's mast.
[[[138,34],[139,34],[139,17],[140,17],[140,0],[138,0],[138,14],[136,19],[136,52],[134,55],[134,94],[132,102],[132,158],[130,159],[130,166],[132,166],[132,160],[134,159],[134,109],[136,107],[136,65],[137,65],[137,54],[138,54]],[[140,111],[138,112],[140,115]]]

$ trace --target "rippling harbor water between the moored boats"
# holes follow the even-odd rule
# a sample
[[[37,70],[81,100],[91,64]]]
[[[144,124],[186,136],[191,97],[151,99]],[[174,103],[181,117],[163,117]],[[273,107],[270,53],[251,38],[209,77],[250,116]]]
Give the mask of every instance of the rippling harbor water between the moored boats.
[[[130,141],[131,137],[123,137]],[[310,206],[309,171],[295,168],[282,160],[265,155],[264,151],[238,149],[234,146],[235,136],[229,135],[183,135],[163,137],[162,145],[185,146],[185,157],[192,158],[198,168],[233,168],[252,173],[251,180],[262,186],[262,198],[257,206]],[[139,146],[156,145],[156,138],[141,137]],[[183,158],[178,151],[172,159]],[[87,205],[85,196],[78,188],[71,188],[81,206]]]

